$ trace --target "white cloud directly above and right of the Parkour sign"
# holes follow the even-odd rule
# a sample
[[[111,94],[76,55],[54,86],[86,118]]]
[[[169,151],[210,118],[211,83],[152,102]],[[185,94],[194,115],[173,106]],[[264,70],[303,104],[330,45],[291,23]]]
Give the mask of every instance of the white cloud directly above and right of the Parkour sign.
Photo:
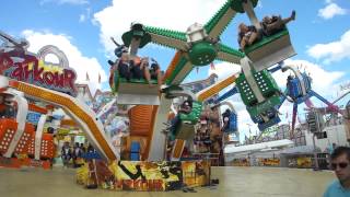
[[[78,83],[88,83],[92,93],[98,88],[98,73],[101,74],[101,81],[107,81],[107,76],[98,63],[96,58],[85,57],[77,46],[71,43],[71,37],[63,34],[52,34],[49,32],[34,32],[32,30],[23,31],[22,34],[30,42],[30,51],[37,53],[45,45],[57,46],[62,50],[68,60],[69,66],[73,68],[78,74]],[[86,72],[90,78],[90,82],[86,82]]]

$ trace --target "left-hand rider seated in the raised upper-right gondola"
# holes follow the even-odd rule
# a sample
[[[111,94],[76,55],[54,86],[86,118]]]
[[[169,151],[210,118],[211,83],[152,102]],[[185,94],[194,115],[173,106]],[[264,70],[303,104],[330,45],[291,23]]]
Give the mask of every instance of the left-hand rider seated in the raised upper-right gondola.
[[[261,33],[256,30],[254,25],[245,25],[241,23],[238,25],[238,44],[240,49],[244,50],[246,46],[254,44],[261,38]]]

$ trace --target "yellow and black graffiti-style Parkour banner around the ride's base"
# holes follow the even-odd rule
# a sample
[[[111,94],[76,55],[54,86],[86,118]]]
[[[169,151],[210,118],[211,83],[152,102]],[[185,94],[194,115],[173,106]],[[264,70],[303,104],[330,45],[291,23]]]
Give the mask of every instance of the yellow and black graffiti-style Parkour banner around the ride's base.
[[[116,190],[175,190],[208,185],[210,163],[206,161],[147,162],[92,160],[78,170],[77,182],[86,187]]]

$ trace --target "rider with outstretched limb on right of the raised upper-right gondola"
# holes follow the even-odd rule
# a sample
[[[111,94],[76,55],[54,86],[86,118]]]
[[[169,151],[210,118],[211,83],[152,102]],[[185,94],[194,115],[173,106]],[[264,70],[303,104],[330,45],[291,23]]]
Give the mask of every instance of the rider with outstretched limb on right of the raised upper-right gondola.
[[[262,32],[266,36],[273,35],[283,30],[285,24],[295,20],[295,11],[292,11],[291,16],[282,19],[280,15],[265,16],[261,22]]]

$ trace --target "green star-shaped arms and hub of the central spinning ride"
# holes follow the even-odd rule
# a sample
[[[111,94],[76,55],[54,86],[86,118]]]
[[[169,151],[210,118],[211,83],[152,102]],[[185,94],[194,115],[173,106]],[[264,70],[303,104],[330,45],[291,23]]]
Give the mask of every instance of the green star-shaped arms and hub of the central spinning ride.
[[[250,0],[253,3],[253,7],[257,5],[258,0]],[[232,20],[226,20],[224,19],[229,12],[229,10],[233,10],[235,12],[240,12],[240,13],[244,13],[244,9],[242,7],[242,2],[243,0],[228,0],[220,9],[219,11],[208,21],[208,23],[205,24],[205,30],[207,32],[207,34],[209,34],[212,30],[214,30],[215,27],[218,27],[218,24],[220,26],[219,30],[219,35],[214,35],[214,37],[211,37],[211,39],[213,40],[220,40],[220,35],[221,33],[226,28],[226,26],[229,25],[230,21]],[[232,16],[233,18],[233,16]],[[224,20],[223,20],[224,19]],[[226,24],[228,23],[228,24]],[[160,27],[153,27],[153,26],[143,26],[143,31],[144,31],[144,35],[151,35],[151,40],[152,43],[155,43],[158,45],[163,45],[165,47],[170,47],[170,48],[174,48],[174,49],[178,49],[178,50],[184,50],[187,46],[187,37],[186,37],[186,33],[184,32],[179,32],[179,31],[173,31],[173,30],[165,30],[165,28],[160,28]],[[217,30],[218,31],[218,30]],[[128,39],[129,42],[125,43],[125,44],[130,44],[130,40],[132,38],[132,36],[142,36],[142,35],[138,35],[137,32],[129,31],[128,34],[125,35],[126,39]],[[154,36],[154,37],[153,37]],[[162,42],[158,40],[156,37],[164,37],[165,39],[162,39]],[[124,39],[125,40],[125,39]],[[148,40],[148,39],[147,39]],[[201,42],[209,42],[209,40],[201,40]],[[176,43],[176,44],[175,44]],[[189,48],[189,50],[184,51],[186,55],[183,55],[183,57],[180,58],[178,65],[176,65],[174,72],[172,73],[171,78],[168,80],[166,80],[166,84],[171,84],[173,82],[173,80],[176,78],[176,76],[180,72],[180,70],[184,68],[184,66],[186,63],[188,63],[188,61],[190,61],[190,59],[200,59],[198,56],[197,51],[202,51],[203,47],[198,47],[198,45],[196,45],[198,43],[195,43],[194,45],[188,45],[191,46],[192,48]],[[199,42],[200,44],[200,42]],[[210,56],[217,56],[214,58],[209,58],[209,59],[215,59],[218,58],[218,53],[224,53],[225,56],[232,56],[235,57],[236,59],[241,59],[243,58],[245,55],[243,53],[240,53],[238,50],[235,50],[233,48],[230,48],[229,46],[222,45],[220,43],[215,44],[217,46],[213,46],[213,49],[217,50],[215,53],[213,53],[211,50],[211,48],[208,49],[208,47],[206,48],[209,53]],[[143,43],[141,42],[140,47],[143,46]],[[197,48],[200,48],[200,50],[197,50]],[[177,48],[180,47],[180,48]],[[196,49],[196,50],[191,50],[191,49]],[[208,56],[208,55],[207,55]],[[205,56],[206,57],[206,56]],[[189,59],[188,59],[189,58]],[[203,58],[201,58],[203,59]],[[221,59],[223,60],[223,59]],[[198,65],[200,66],[201,62],[199,60],[199,62],[190,62],[191,65]],[[203,62],[203,63],[208,63],[208,62]],[[234,63],[238,63],[238,60]],[[188,73],[187,73],[188,74]]]

